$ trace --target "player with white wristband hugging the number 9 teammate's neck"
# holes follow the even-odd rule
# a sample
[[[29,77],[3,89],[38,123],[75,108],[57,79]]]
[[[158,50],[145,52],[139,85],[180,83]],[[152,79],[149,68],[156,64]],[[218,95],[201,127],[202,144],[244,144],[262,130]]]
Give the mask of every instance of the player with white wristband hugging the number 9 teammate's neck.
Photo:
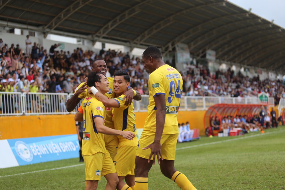
[[[109,100],[100,92],[93,92],[95,97],[103,102],[107,107],[112,107],[112,119],[116,130],[130,131],[137,135],[136,120],[133,102],[131,105],[125,105],[124,93],[130,84],[130,76],[124,70],[119,70],[114,74],[113,89],[116,97]],[[138,140],[125,140],[118,136],[119,145],[115,155],[114,163],[119,177],[117,185],[118,190],[131,190],[135,185],[135,154]],[[124,182],[127,182],[127,185]]]

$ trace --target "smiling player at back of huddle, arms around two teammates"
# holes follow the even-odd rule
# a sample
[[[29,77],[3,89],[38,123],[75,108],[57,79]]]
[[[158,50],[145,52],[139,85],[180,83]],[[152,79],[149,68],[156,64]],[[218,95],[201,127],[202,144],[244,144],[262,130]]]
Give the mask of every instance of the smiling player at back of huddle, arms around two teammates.
[[[91,66],[92,66],[91,72],[100,72],[103,75],[106,75],[107,65],[103,59],[94,60]],[[109,82],[109,91],[105,94],[105,96],[107,96],[109,99],[115,97],[115,93],[113,90],[113,79],[114,78],[107,77],[107,80]],[[78,86],[78,88],[76,88],[76,91],[75,91],[74,95],[72,96],[72,98],[67,100],[66,110],[68,112],[71,112],[72,110],[74,110],[74,108],[80,102],[80,100],[85,98],[85,96],[87,95],[87,87],[88,87],[86,85],[87,84],[85,82],[82,82]],[[136,91],[137,95],[135,95],[134,93],[135,92],[132,90],[132,88],[129,88],[129,90],[127,90],[125,92],[125,97],[124,97],[124,99],[126,99],[125,105],[131,104],[133,98],[135,100],[141,100],[141,94],[138,91]],[[114,129],[114,125],[112,122],[112,109],[110,107],[106,107],[105,125],[109,128]],[[109,151],[113,161],[114,161],[114,158],[116,155],[118,143],[119,143],[119,140],[116,136],[105,135],[106,149]]]

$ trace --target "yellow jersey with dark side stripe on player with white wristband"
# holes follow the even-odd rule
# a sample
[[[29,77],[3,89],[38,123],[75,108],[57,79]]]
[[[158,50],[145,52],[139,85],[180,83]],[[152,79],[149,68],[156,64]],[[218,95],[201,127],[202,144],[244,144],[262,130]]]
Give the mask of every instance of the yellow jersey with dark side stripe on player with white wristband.
[[[113,108],[112,121],[116,130],[130,131],[137,136],[136,116],[134,113],[133,102],[129,106],[125,106],[126,99],[123,100],[125,95],[121,95],[117,98],[113,98],[119,104],[119,108]],[[117,136],[118,139],[123,139],[122,136]]]

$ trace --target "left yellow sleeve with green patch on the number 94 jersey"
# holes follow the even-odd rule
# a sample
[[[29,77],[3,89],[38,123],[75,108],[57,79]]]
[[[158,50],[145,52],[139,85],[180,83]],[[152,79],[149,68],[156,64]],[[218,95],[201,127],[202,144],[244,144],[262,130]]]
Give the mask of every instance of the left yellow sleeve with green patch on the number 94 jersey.
[[[165,90],[163,86],[163,80],[161,75],[149,75],[148,79],[148,85],[150,86],[150,89],[152,90],[153,98],[156,95],[162,94],[165,95]]]

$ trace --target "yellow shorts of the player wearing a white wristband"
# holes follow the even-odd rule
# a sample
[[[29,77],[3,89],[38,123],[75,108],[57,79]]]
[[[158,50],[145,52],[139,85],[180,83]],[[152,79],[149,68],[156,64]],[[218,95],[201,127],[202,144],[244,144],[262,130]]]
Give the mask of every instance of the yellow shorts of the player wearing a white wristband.
[[[120,140],[114,160],[118,176],[135,175],[138,141],[136,137],[133,140]]]

